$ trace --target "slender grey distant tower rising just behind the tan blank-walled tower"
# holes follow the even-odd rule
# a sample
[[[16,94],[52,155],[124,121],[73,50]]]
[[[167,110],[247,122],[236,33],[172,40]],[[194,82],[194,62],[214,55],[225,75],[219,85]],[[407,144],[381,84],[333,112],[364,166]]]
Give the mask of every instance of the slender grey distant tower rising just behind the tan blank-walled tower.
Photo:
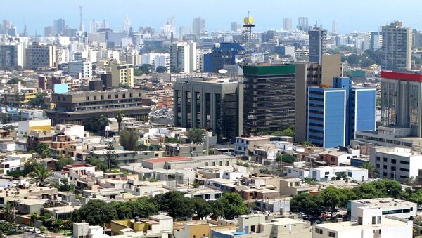
[[[321,63],[322,55],[327,51],[327,31],[314,27],[309,32],[309,62]]]

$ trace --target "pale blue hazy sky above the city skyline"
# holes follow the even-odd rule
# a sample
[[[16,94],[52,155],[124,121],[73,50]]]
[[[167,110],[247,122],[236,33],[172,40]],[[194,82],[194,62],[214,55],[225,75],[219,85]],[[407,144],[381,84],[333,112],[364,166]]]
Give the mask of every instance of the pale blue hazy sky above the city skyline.
[[[255,32],[281,29],[283,18],[292,18],[295,27],[299,16],[307,16],[309,25],[318,20],[328,31],[335,20],[341,33],[376,30],[392,20],[422,29],[421,0],[0,0],[0,18],[11,20],[18,32],[23,32],[26,22],[30,34],[36,30],[44,34],[44,27],[58,18],[77,28],[79,5],[84,6],[86,30],[92,19],[106,19],[110,27],[120,30],[126,15],[134,29],[158,29],[172,15],[177,31],[181,25],[189,27],[198,16],[205,18],[208,30],[230,29],[230,23],[241,23],[248,11],[255,18]]]

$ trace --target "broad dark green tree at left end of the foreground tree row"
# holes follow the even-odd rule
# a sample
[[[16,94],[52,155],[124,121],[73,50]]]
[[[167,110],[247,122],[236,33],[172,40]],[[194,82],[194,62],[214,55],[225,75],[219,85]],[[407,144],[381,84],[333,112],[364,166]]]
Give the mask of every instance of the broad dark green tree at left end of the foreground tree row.
[[[85,206],[72,212],[71,219],[75,222],[85,220],[89,225],[101,225],[110,223],[118,218],[117,211],[112,204],[103,200],[90,200]]]

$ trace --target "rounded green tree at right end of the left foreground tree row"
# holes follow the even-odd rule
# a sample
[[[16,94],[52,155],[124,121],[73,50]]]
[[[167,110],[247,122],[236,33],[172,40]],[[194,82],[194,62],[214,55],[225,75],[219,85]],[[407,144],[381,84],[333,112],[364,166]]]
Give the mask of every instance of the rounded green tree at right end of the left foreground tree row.
[[[239,194],[234,192],[226,192],[221,199],[215,201],[217,214],[224,219],[231,220],[239,215],[249,214],[248,206],[242,201]]]

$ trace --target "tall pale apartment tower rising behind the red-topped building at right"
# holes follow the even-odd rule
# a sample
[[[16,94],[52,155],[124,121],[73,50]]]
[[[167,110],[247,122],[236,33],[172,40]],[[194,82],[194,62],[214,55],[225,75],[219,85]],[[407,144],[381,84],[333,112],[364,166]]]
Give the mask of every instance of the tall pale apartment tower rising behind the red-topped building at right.
[[[381,70],[411,70],[412,32],[402,27],[402,22],[392,22],[381,27],[383,34],[383,59]]]

